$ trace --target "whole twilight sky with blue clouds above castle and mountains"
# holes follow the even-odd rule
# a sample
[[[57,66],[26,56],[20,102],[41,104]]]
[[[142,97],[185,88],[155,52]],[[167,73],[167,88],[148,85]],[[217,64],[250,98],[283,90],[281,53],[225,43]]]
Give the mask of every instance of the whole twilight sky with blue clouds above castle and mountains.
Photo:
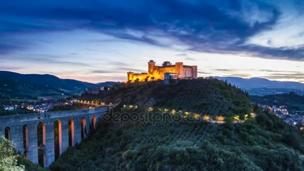
[[[6,0],[0,70],[125,81],[147,61],[304,83],[304,0]]]

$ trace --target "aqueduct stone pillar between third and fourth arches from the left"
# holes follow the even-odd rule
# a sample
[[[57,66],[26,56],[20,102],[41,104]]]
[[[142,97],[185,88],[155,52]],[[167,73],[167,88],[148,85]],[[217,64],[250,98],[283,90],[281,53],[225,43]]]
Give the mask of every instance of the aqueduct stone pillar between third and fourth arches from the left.
[[[44,167],[48,167],[55,160],[54,150],[54,125],[52,120],[45,124],[45,163]]]

